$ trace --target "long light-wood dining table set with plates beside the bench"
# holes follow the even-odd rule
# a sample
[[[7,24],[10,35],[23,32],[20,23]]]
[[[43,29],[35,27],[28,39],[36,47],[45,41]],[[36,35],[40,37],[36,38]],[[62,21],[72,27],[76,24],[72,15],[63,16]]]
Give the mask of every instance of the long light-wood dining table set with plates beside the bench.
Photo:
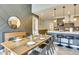
[[[44,43],[45,41],[49,40],[51,38],[50,35],[36,35],[32,39],[28,37],[21,38],[20,41],[5,41],[1,43],[1,45],[4,47],[5,52],[7,52],[6,55],[10,55],[10,53],[13,53],[14,55],[23,55],[25,53],[28,53],[32,49],[38,47],[40,44]],[[35,44],[28,44],[28,42],[35,42]]]

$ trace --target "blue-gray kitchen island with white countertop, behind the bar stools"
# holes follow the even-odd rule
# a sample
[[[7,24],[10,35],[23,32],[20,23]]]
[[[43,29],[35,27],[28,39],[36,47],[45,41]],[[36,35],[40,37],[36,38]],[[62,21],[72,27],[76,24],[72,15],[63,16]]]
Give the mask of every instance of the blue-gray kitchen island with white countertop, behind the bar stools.
[[[67,45],[68,44],[68,39],[66,38],[66,36],[73,36],[74,38],[70,41],[71,46],[75,46],[76,48],[79,47],[79,31],[74,31],[74,32],[69,32],[69,31],[48,31],[47,32],[50,35],[54,35],[55,36],[55,42],[58,43],[58,38],[57,35],[58,34],[62,34],[63,36],[65,36],[64,38],[61,39],[61,42],[63,45]]]

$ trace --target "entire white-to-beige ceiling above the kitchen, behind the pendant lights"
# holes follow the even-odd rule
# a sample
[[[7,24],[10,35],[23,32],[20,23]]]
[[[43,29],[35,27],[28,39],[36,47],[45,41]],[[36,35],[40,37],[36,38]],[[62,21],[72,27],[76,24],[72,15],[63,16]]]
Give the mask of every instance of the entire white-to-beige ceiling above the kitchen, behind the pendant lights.
[[[51,20],[56,17],[63,16],[63,6],[65,6],[65,16],[68,15],[70,11],[71,15],[74,14],[73,4],[33,4],[32,13],[37,14],[40,20]],[[56,13],[54,14],[54,8],[56,8]],[[76,13],[79,14],[79,5],[76,6]]]

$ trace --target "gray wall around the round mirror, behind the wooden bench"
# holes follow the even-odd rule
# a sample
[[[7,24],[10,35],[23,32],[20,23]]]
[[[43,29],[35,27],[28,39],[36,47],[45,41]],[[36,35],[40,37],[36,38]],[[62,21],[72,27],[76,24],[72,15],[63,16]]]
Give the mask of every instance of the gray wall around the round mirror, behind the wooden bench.
[[[7,22],[9,17],[17,16],[21,21],[21,26],[18,29],[11,29]],[[3,32],[26,31],[32,32],[30,4],[0,4],[0,40]],[[0,41],[1,42],[1,41]]]

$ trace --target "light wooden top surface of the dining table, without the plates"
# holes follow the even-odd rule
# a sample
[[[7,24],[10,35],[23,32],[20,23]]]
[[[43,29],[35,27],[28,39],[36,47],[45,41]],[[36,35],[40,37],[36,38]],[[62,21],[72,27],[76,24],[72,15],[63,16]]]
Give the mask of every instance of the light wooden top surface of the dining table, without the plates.
[[[33,41],[36,42],[36,44],[28,46],[27,42],[30,41],[29,38],[22,38],[20,42],[14,42],[14,41],[6,41],[1,43],[2,46],[4,46],[9,51],[13,52],[17,55],[22,55],[24,53],[28,53],[33,48],[39,46],[41,43],[47,41],[51,36],[49,35],[43,35],[44,39],[40,39],[39,36],[37,39],[34,39]]]

